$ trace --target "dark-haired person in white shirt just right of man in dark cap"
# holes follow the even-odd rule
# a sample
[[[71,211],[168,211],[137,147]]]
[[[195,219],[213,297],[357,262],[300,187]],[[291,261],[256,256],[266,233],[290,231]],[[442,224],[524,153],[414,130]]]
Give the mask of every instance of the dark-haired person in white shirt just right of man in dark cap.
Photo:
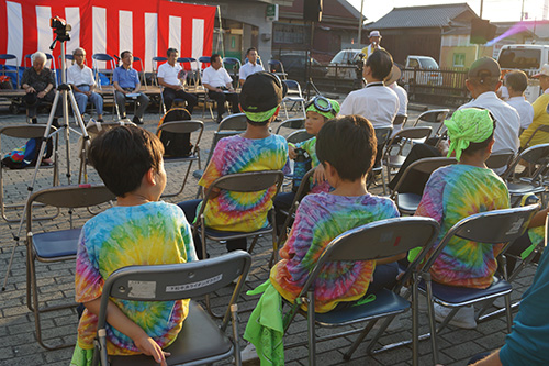
[[[520,70],[511,71],[505,75],[505,86],[509,96],[506,102],[518,112],[520,129],[528,129],[534,120],[534,107],[524,96],[524,91],[528,87],[528,76]]]

